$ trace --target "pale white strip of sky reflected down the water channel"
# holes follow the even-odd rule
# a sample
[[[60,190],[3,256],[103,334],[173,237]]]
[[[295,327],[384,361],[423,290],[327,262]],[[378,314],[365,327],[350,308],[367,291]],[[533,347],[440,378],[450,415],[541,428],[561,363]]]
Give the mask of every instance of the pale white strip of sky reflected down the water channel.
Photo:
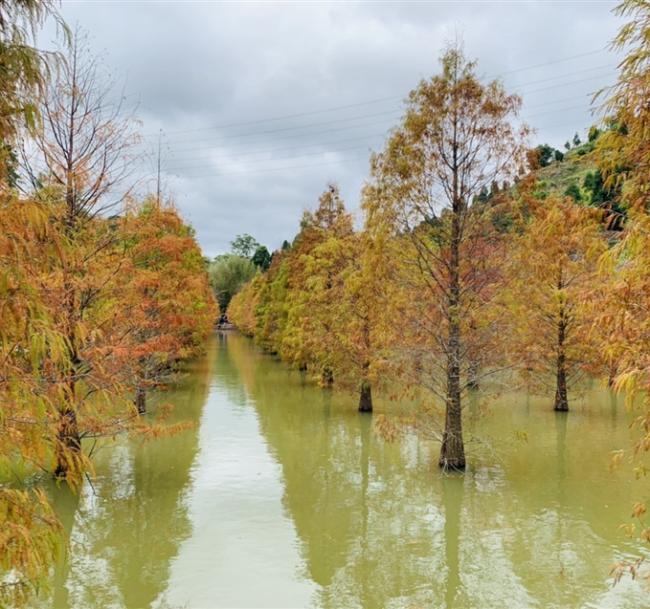
[[[181,545],[167,601],[188,607],[306,607],[295,531],[282,510],[281,468],[252,406],[213,385],[192,469],[193,535]]]

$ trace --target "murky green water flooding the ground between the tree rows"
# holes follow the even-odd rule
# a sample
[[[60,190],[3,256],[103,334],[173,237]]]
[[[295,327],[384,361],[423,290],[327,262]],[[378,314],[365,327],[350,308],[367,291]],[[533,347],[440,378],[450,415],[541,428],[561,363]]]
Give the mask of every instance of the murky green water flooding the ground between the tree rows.
[[[603,389],[568,416],[504,396],[468,425],[464,476],[237,334],[153,401],[194,425],[118,440],[93,486],[55,492],[70,555],[43,606],[650,607],[645,584],[608,579],[644,552],[618,526],[646,489],[608,469],[631,432]]]

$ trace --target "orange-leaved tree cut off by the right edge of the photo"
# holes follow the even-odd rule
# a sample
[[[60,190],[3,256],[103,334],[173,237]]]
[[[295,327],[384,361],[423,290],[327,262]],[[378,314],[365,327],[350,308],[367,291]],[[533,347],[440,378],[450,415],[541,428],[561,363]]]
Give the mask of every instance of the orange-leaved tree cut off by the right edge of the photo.
[[[598,162],[606,183],[620,188],[628,213],[622,238],[603,256],[607,290],[595,324],[602,357],[615,373],[614,387],[626,392],[630,407],[642,396],[645,408],[634,421],[640,430],[634,454],[641,457],[650,450],[650,5],[624,0],[615,13],[627,22],[612,46],[625,56],[617,83],[601,92],[610,128],[599,142]],[[638,476],[647,471],[642,464],[635,469]],[[634,506],[631,529],[647,542],[646,511],[643,502]],[[615,578],[625,571],[636,576],[638,566],[615,565]]]

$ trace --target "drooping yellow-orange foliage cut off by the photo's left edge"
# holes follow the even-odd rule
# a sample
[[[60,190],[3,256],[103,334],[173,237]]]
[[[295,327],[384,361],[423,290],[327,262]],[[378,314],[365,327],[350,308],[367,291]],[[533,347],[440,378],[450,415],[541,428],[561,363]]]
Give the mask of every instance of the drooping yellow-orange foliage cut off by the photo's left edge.
[[[17,135],[33,133],[38,96],[55,56],[33,45],[48,17],[60,25],[55,3],[4,2],[0,7],[0,605],[19,605],[41,583],[57,556],[60,525],[45,494],[15,488],[17,470],[42,468],[46,461],[47,410],[39,394],[42,373],[35,364],[45,344],[62,357],[63,337],[33,283],[34,253],[46,239],[48,216],[35,201],[14,192]],[[41,338],[43,337],[43,340]],[[29,464],[29,465],[26,465]]]

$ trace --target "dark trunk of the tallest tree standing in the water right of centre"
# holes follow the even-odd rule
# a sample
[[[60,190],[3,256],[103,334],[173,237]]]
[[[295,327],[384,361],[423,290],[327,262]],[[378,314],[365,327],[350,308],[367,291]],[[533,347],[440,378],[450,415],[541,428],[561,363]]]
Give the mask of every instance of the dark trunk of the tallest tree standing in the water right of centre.
[[[455,202],[454,207],[461,205]],[[454,210],[449,259],[449,298],[447,315],[449,318],[449,337],[447,344],[447,400],[445,429],[442,434],[440,460],[438,465],[444,470],[462,471],[465,469],[465,446],[463,443],[463,423],[460,402],[460,219],[459,211]]]

